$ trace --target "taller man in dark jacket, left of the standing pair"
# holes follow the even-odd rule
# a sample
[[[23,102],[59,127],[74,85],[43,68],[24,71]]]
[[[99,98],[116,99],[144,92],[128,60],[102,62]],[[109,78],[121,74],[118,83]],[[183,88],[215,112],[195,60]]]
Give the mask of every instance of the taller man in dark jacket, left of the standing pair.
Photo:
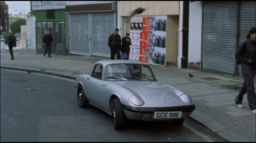
[[[121,59],[121,36],[118,34],[119,29],[116,28],[115,32],[108,37],[108,47],[110,47],[110,59]]]

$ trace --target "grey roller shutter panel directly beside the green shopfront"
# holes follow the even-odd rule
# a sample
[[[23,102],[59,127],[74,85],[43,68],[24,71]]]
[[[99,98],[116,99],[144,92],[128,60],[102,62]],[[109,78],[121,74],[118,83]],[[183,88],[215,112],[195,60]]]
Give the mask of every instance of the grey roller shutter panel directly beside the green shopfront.
[[[90,13],[69,14],[70,53],[90,55]]]

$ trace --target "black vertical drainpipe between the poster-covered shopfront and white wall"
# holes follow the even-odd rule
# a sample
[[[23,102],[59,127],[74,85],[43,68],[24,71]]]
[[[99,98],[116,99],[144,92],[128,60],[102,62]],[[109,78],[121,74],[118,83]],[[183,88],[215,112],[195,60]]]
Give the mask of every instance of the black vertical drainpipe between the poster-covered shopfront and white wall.
[[[182,26],[182,58],[181,68],[188,68],[188,17],[189,1],[183,1],[183,26]]]

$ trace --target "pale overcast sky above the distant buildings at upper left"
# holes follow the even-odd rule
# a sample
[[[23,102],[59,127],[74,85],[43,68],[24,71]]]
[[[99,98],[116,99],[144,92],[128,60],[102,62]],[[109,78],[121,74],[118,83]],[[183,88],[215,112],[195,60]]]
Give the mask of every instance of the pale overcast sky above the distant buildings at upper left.
[[[4,1],[8,4],[8,14],[19,14],[20,12],[23,14],[23,10],[25,14],[30,12],[30,1]],[[15,11],[19,10],[19,11]]]

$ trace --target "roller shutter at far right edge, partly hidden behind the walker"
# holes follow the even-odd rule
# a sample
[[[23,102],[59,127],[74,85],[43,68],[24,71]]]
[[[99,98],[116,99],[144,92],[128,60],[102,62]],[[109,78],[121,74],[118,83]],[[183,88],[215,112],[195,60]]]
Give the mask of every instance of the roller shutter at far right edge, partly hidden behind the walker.
[[[246,40],[246,35],[251,27],[256,25],[256,2],[245,1],[241,2],[240,7],[240,37],[239,44]],[[239,65],[238,73],[241,73],[241,66]]]

